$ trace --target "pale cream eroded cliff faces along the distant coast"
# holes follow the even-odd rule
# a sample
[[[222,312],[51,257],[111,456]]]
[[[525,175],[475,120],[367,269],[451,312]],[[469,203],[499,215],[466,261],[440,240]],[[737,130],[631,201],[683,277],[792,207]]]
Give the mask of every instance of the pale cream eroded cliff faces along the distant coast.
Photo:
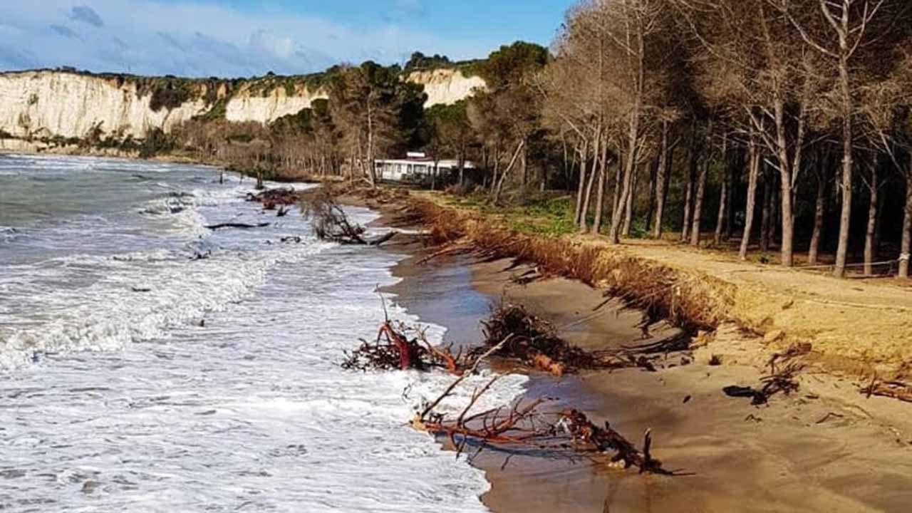
[[[477,77],[461,71],[437,69],[418,71],[405,79],[423,84],[428,94],[425,107],[451,104],[484,87]],[[175,126],[224,102],[229,121],[269,123],[311,107],[325,99],[326,91],[304,85],[253,90],[242,85],[232,93],[224,88],[206,94],[206,86],[194,86],[193,99],[177,107],[151,108],[152,95],[140,91],[134,81],[118,80],[67,71],[23,71],[0,74],[0,131],[16,138],[86,138],[96,127],[104,134],[141,139],[154,128],[171,131]],[[208,98],[208,100],[206,99]]]

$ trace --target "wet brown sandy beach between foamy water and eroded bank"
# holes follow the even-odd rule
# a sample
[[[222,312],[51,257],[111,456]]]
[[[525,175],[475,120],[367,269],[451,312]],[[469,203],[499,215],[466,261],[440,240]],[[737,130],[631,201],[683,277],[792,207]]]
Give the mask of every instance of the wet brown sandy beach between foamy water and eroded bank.
[[[393,209],[379,206],[385,214],[378,222],[395,225]],[[641,314],[617,301],[589,319],[602,293],[579,281],[516,285],[512,277],[531,267],[513,267],[509,259],[443,257],[418,266],[427,251],[414,237],[388,250],[409,257],[393,268],[399,284],[386,290],[422,321],[447,327],[448,341],[479,340],[485,302],[504,290],[557,326],[578,321],[561,334],[587,349],[649,341],[637,327]],[[651,334],[665,330],[674,329],[663,326]],[[723,364],[710,365],[713,355]],[[537,455],[507,460],[489,450],[472,461],[492,484],[482,501],[495,513],[903,510],[912,501],[909,406],[866,399],[857,393],[864,383],[814,371],[799,377],[797,393],[778,394],[765,407],[721,392],[727,385],[759,382],[764,356],[757,337],[723,326],[694,351],[692,364],[671,361],[659,372],[586,372],[558,380],[521,370],[530,375],[526,397],[557,396],[556,405],[573,403],[595,422],[610,421],[635,443],[651,428],[654,454],[687,475],[641,476],[604,462]]]

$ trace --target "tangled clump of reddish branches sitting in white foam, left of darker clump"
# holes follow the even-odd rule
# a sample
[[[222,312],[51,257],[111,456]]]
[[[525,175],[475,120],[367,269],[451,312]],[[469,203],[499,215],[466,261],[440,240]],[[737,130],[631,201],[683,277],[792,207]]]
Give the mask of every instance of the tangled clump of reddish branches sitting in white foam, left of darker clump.
[[[407,333],[414,336],[409,338]],[[394,323],[387,319],[378,330],[377,340],[361,340],[355,351],[345,351],[342,368],[349,371],[416,371],[430,372],[445,369],[453,375],[465,372],[461,352],[453,354],[451,347],[437,348],[428,341],[424,330]]]

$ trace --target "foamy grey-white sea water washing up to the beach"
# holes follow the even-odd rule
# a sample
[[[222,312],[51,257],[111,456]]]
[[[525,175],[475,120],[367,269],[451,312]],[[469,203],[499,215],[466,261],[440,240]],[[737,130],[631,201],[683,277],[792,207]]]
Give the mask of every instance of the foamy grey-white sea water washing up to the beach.
[[[482,473],[405,425],[448,377],[338,366],[399,257],[318,242],[249,185],[0,156],[0,509],[484,510]],[[227,221],[272,225],[205,228]]]

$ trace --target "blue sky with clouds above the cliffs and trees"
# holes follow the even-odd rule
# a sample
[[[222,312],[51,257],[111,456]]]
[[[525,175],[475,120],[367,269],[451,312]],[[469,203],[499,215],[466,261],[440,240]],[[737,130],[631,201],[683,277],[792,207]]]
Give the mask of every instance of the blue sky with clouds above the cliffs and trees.
[[[547,46],[572,0],[0,0],[0,70],[301,74]]]

